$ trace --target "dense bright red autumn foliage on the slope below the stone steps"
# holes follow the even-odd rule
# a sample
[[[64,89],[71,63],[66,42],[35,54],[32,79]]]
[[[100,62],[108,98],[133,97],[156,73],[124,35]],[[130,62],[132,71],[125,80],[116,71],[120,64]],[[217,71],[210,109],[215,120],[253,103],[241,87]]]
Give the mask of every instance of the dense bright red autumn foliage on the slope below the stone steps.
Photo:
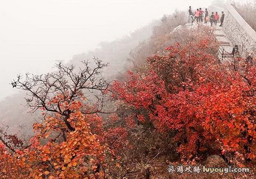
[[[216,58],[217,48],[211,35],[177,43],[167,55],[149,57],[147,72],[129,72],[113,85],[113,97],[136,110],[138,120],[176,134],[184,161],[226,152],[255,159],[255,68],[234,59],[234,70],[232,61]]]

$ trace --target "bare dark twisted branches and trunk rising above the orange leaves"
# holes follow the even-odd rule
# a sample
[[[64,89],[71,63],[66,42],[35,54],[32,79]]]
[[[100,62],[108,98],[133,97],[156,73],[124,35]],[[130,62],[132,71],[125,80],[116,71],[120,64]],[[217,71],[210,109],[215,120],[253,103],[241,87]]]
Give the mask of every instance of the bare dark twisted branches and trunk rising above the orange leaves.
[[[93,58],[93,61],[93,64],[89,61],[82,61],[83,68],[79,69],[76,69],[74,65],[64,65],[60,62],[56,64],[56,72],[42,75],[18,75],[17,80],[12,83],[16,84],[16,88],[27,92],[25,99],[32,109],[31,112],[44,108],[48,112],[60,114],[68,129],[75,130],[68,122],[72,111],[62,109],[59,102],[51,103],[50,100],[60,94],[63,100],[71,103],[77,99],[81,100],[82,96],[87,99],[84,102],[94,103],[93,110],[84,109],[84,114],[109,113],[102,110],[104,92],[108,90],[110,83],[101,77],[102,70],[108,64],[104,64],[98,58]],[[95,98],[91,98],[92,96]]]

